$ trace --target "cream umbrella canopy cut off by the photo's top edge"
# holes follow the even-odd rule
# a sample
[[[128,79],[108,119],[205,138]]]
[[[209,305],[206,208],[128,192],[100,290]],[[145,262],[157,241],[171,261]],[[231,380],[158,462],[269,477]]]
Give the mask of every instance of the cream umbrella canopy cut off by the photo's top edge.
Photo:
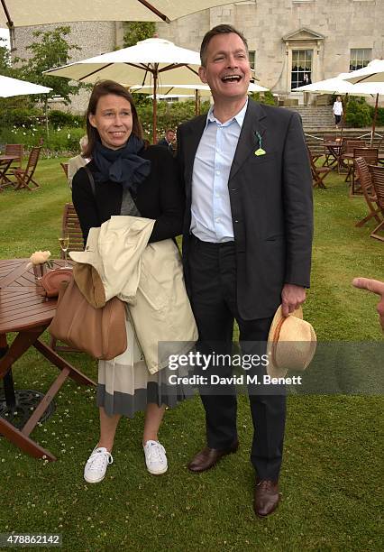
[[[165,21],[228,4],[228,0],[1,0],[0,27],[78,21]]]

